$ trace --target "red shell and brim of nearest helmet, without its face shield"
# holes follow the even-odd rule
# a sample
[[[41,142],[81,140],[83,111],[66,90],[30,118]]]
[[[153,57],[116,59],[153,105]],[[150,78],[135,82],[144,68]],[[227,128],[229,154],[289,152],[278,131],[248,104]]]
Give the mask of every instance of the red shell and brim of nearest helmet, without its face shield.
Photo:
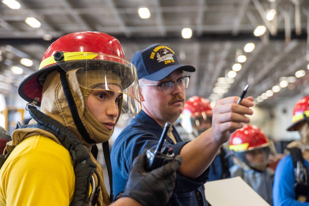
[[[108,34],[75,32],[60,37],[45,52],[39,70],[25,78],[18,87],[19,95],[30,103],[35,100],[37,102],[36,106],[41,106],[42,88],[46,75],[59,67],[53,57],[57,51],[64,53],[108,54],[125,59],[119,41]]]

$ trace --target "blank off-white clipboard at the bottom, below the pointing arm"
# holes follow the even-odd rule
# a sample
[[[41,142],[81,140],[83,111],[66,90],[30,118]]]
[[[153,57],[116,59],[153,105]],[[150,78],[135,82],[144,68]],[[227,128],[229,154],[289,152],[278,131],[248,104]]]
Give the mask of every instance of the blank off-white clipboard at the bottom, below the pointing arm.
[[[204,186],[212,206],[270,206],[241,177],[210,181]]]

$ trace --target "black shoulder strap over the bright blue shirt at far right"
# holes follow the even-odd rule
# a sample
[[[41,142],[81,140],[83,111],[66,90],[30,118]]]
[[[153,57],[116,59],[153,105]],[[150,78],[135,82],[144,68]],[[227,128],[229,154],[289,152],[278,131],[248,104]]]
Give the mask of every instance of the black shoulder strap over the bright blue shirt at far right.
[[[303,162],[302,151],[298,148],[290,148],[290,155],[293,160],[295,184],[294,190],[296,200],[300,202],[308,202],[307,195],[309,192],[308,171]]]

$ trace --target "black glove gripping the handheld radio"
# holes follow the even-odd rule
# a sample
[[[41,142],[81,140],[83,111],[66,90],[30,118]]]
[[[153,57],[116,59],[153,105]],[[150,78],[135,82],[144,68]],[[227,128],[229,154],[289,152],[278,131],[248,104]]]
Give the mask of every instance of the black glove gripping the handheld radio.
[[[182,163],[182,157],[177,155],[164,166],[146,172],[146,151],[147,149],[134,159],[126,187],[116,196],[116,200],[120,197],[131,197],[144,206],[166,205],[172,196],[176,170]]]

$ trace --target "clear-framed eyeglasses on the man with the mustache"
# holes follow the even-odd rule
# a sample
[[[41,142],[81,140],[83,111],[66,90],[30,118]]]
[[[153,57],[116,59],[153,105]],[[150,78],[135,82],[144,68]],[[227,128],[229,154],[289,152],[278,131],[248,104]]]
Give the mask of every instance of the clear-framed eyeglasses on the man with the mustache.
[[[172,82],[163,82],[161,84],[143,84],[139,86],[160,86],[163,94],[168,95],[173,92],[174,90],[174,83],[177,83],[179,89],[184,90],[187,89],[189,86],[189,79],[190,76],[185,76],[182,78],[177,79],[176,81]]]

